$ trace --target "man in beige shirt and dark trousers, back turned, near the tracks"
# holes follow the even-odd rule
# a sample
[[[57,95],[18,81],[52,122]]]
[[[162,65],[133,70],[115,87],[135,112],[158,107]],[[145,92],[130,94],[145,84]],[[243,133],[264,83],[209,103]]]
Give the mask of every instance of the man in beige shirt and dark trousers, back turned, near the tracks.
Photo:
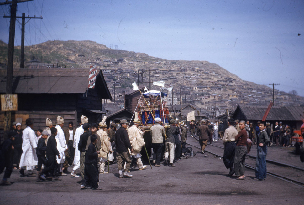
[[[234,174],[234,156],[235,156],[235,136],[238,135],[238,131],[233,126],[234,119],[230,118],[228,120],[228,128],[224,132],[223,144],[224,144],[224,155],[223,161],[227,169],[230,169],[228,176]]]

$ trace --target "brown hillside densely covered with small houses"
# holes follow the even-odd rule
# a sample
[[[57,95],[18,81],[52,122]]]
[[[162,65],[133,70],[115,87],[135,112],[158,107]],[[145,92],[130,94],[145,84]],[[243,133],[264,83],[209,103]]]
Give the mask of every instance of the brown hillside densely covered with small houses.
[[[116,102],[119,95],[131,88],[132,82],[163,80],[165,87],[173,86],[174,104],[191,103],[211,110],[216,105],[217,114],[233,110],[238,104],[268,105],[272,89],[244,81],[217,64],[207,61],[166,60],[144,53],[114,50],[93,41],[47,41],[25,47],[25,67],[89,68],[98,65],[103,70],[108,87]],[[15,47],[14,66],[19,67],[20,47]],[[5,67],[7,45],[0,43],[0,66]],[[139,73],[139,74],[138,74]],[[150,75],[150,76],[149,76]],[[158,90],[159,87],[151,87]],[[113,96],[114,99],[114,96]],[[172,97],[168,97],[170,105]],[[275,90],[275,105],[300,105],[303,97]],[[118,103],[119,104],[119,103]]]

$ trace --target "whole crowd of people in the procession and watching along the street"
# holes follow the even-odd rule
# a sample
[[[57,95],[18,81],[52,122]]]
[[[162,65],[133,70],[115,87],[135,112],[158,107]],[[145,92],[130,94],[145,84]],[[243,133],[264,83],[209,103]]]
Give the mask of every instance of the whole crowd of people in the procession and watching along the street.
[[[106,125],[106,117],[102,122],[88,123],[86,116],[81,116],[78,128],[73,122],[63,130],[64,119],[57,116],[56,123],[46,118],[44,130],[33,130],[33,120],[26,120],[26,128],[21,130],[21,123],[14,122],[12,130],[1,145],[1,169],[6,168],[1,183],[9,185],[8,178],[12,170],[19,170],[22,176],[36,175],[41,180],[60,181],[58,176],[70,174],[81,177],[81,189],[91,186],[99,189],[99,174],[107,174],[106,163],[118,165],[119,178],[132,177],[130,167],[146,169],[141,160],[141,150],[145,145],[144,132],[140,128],[141,121],[135,118],[129,125],[125,119],[120,120],[120,127],[113,121]],[[201,120],[201,123],[190,121],[191,136],[198,136],[201,152],[205,153],[207,143],[223,140],[223,162],[229,169],[228,176],[237,176],[237,180],[245,179],[245,156],[253,144],[257,145],[255,180],[266,179],[267,146],[290,146],[291,129],[282,122],[276,122],[273,129],[270,123],[258,122],[254,128],[249,121],[238,121],[230,118],[228,128],[224,130],[222,121]],[[170,119],[163,126],[160,118],[150,127],[152,137],[152,165],[160,167],[163,160],[165,166],[175,167],[175,162],[186,158],[187,126],[184,121]],[[271,131],[272,130],[272,131]],[[270,138],[269,138],[270,137]],[[72,171],[68,172],[68,167]],[[36,170],[36,173],[35,173]]]

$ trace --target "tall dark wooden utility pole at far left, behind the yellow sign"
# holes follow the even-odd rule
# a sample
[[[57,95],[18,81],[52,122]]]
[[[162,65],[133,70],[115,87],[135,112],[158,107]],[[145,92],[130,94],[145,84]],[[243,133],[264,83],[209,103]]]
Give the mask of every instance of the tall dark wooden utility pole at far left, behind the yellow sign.
[[[30,0],[12,0],[11,2],[2,2],[0,5],[11,4],[11,16],[9,24],[9,39],[8,39],[8,67],[7,67],[7,81],[6,81],[6,94],[12,93],[13,87],[13,63],[14,63],[14,40],[15,40],[15,26],[16,26],[16,13],[17,3]],[[5,111],[4,113],[4,136],[7,136],[11,126],[11,111]]]

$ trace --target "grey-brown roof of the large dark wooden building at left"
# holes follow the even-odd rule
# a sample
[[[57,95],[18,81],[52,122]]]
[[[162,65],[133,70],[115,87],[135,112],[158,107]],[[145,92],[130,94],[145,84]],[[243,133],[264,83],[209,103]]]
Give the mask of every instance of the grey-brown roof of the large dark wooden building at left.
[[[14,69],[13,93],[85,93],[89,68]],[[0,69],[0,92],[6,88],[6,69]],[[102,71],[96,77],[95,88],[103,99],[112,99]]]

